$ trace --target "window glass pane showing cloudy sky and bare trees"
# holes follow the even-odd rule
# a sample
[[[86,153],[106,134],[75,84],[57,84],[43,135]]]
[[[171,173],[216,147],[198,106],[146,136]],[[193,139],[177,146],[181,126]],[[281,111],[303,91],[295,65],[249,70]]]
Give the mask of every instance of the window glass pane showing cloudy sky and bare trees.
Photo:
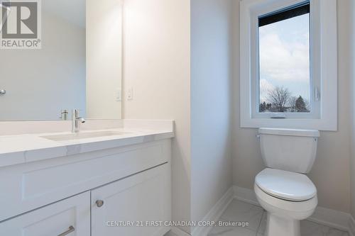
[[[259,111],[310,112],[310,13],[259,27]]]

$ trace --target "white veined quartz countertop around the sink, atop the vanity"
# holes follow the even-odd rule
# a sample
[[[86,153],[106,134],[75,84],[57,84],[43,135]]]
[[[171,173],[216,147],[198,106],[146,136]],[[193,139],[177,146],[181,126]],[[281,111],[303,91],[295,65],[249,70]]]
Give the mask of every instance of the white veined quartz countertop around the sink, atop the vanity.
[[[121,134],[61,141],[49,140],[45,136],[65,135],[70,132],[0,136],[0,167],[174,137],[173,129],[110,128],[84,130],[81,133],[100,131],[113,131]]]

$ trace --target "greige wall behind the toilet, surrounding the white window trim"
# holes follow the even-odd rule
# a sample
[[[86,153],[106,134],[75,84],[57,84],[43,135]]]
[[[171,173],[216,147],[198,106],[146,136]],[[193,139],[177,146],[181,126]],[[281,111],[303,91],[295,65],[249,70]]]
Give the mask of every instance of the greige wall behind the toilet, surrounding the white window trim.
[[[239,1],[235,1],[236,5]],[[235,15],[239,15],[239,6],[234,8]],[[319,205],[334,210],[349,212],[350,209],[350,50],[349,16],[350,0],[338,1],[338,44],[339,44],[339,96],[338,96],[338,122],[337,132],[321,132],[318,154],[310,179],[318,190]],[[236,17],[236,21],[239,18]],[[239,125],[239,26],[234,34],[235,52],[235,84],[234,84],[234,128],[233,174],[234,184],[244,188],[253,189],[254,177],[264,166],[256,129],[240,128]]]

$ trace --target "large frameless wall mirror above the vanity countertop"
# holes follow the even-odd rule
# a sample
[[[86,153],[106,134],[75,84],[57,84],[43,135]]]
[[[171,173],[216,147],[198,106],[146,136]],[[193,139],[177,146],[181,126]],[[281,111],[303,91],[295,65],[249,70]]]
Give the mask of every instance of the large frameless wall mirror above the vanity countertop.
[[[120,119],[122,1],[33,1],[35,14],[0,0],[0,120],[70,120],[73,108],[88,119]],[[40,48],[4,47],[38,33],[33,15]],[[11,28],[17,38],[6,38]]]

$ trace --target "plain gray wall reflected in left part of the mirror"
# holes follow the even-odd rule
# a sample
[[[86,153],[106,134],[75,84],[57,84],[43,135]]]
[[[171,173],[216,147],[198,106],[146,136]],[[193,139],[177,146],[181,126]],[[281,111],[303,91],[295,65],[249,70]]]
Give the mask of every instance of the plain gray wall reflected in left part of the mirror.
[[[1,50],[0,120],[57,120],[61,109],[85,116],[85,29],[43,11],[41,50]]]

